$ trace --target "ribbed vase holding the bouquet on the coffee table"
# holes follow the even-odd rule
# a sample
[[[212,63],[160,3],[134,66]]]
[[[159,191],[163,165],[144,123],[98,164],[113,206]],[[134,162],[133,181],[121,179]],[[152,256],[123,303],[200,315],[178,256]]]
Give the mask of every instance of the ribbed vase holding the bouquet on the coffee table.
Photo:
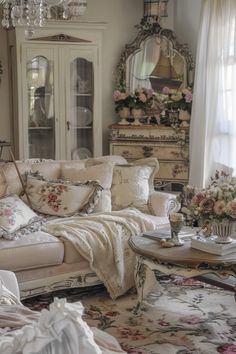
[[[231,235],[234,232],[235,221],[230,219],[213,220],[212,231],[213,235],[217,236],[216,243],[232,242]]]

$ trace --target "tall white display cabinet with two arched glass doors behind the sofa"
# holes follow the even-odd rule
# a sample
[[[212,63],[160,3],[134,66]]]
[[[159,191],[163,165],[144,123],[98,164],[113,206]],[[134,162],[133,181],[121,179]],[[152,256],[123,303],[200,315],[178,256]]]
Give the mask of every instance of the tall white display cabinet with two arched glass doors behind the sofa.
[[[103,29],[54,21],[28,39],[9,33],[17,158],[102,155]]]

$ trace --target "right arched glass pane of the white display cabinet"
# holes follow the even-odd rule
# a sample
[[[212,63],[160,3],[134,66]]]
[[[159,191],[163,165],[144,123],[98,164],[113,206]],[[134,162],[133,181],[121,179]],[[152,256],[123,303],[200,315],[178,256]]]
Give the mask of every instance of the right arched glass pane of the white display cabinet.
[[[88,58],[70,62],[70,109],[67,116],[67,158],[93,156],[94,65]]]

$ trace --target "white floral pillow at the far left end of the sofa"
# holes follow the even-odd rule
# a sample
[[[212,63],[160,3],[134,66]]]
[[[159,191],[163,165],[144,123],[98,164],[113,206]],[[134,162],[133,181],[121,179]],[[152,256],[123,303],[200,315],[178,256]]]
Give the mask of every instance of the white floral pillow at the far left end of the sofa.
[[[12,239],[15,237],[16,231],[39,219],[40,217],[17,195],[0,199],[1,237]]]

